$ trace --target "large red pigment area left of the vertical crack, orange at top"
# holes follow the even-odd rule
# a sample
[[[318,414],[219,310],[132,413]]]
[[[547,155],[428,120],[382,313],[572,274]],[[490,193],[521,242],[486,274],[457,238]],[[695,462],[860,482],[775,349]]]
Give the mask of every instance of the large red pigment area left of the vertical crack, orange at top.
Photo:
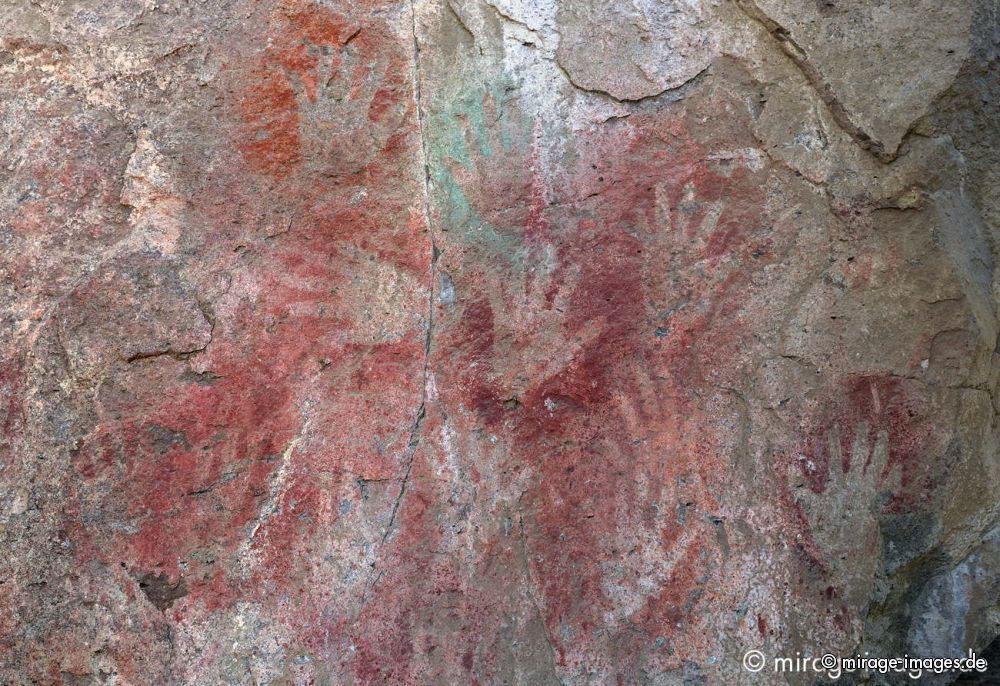
[[[309,68],[300,43],[336,45],[359,26],[311,3],[288,7],[316,16],[274,19],[274,36],[287,41],[281,47],[275,40],[278,47],[262,53],[238,95],[249,113],[244,124],[270,134],[260,147],[242,149],[246,171],[257,178],[298,164],[298,115],[283,70]],[[378,47],[384,28],[369,29],[354,39],[362,51],[391,50]],[[395,73],[402,63],[392,64],[385,88],[408,98],[408,83]],[[256,103],[247,99],[254,94],[261,95]],[[388,116],[389,102],[376,96],[373,116]],[[414,188],[400,181],[413,159],[414,130],[414,122],[400,126],[343,183],[292,176],[258,194],[253,174],[228,170],[225,178],[208,177],[202,195],[190,199],[191,216],[217,227],[199,236],[201,254],[253,290],[227,301],[208,350],[192,361],[210,371],[211,382],[193,380],[187,363],[169,358],[123,372],[153,374],[158,392],[123,414],[101,417],[74,458],[82,478],[71,494],[68,530],[81,560],[124,562],[134,575],[164,572],[170,582],[183,576],[188,595],[172,609],[177,619],[192,607],[224,608],[241,597],[270,603],[277,592],[290,594],[298,610],[288,622],[303,637],[329,628],[324,612],[346,599],[308,587],[314,541],[323,541],[316,532],[329,529],[340,497],[357,490],[357,479],[398,474],[421,395],[419,322],[412,320],[399,340],[373,339],[364,333],[370,325],[356,320],[355,283],[358,273],[382,264],[397,270],[403,284],[416,284],[402,292],[412,301],[401,305],[407,312],[426,306],[430,246],[412,200],[419,177]],[[358,196],[358,188],[368,194]],[[265,241],[257,217],[272,207],[287,208],[282,228],[287,222],[288,229]],[[283,453],[300,434],[286,479],[277,484]],[[269,500],[276,502],[273,511],[263,509]],[[127,526],[96,526],[88,516],[96,512]],[[250,544],[255,564],[246,576],[234,555],[258,520]]]

